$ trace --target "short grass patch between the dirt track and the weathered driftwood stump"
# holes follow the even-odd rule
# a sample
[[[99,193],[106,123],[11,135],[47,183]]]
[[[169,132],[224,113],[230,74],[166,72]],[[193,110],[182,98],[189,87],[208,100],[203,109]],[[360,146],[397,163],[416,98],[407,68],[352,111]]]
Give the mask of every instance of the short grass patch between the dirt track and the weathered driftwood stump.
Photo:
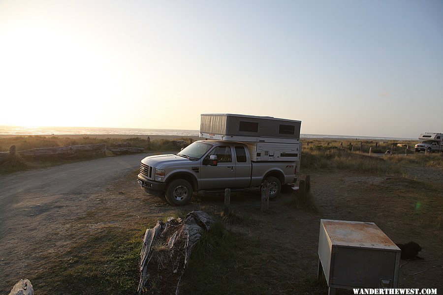
[[[31,277],[40,295],[134,294],[144,229],[107,227],[46,263]],[[64,290],[64,291],[62,291]]]

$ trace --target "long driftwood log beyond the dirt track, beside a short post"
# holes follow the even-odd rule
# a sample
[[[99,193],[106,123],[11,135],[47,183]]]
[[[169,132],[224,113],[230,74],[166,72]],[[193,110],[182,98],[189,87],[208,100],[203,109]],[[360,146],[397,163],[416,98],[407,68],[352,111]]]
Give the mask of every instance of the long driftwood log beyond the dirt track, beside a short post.
[[[24,158],[44,158],[60,156],[71,158],[78,155],[100,154],[106,151],[106,144],[65,146],[54,148],[32,148],[17,151],[17,154]]]

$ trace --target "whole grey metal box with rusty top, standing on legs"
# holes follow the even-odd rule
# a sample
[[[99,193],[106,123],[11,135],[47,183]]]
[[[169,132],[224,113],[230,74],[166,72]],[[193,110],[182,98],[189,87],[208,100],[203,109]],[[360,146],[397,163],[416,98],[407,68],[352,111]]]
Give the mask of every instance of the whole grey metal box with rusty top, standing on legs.
[[[331,294],[331,288],[396,288],[400,254],[373,222],[320,220],[318,275],[322,270]]]

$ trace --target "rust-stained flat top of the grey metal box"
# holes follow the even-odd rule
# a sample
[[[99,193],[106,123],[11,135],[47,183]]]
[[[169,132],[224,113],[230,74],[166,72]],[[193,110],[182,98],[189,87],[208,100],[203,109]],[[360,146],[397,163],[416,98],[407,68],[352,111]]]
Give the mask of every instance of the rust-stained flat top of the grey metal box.
[[[332,246],[400,251],[374,222],[321,219]]]

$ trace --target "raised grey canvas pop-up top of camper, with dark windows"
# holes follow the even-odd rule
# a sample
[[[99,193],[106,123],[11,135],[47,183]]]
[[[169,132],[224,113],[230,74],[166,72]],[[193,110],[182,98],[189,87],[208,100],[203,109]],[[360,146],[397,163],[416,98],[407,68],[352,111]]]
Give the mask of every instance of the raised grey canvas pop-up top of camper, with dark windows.
[[[301,121],[273,117],[202,114],[200,137],[242,141],[295,143],[300,139]]]

